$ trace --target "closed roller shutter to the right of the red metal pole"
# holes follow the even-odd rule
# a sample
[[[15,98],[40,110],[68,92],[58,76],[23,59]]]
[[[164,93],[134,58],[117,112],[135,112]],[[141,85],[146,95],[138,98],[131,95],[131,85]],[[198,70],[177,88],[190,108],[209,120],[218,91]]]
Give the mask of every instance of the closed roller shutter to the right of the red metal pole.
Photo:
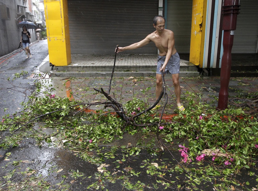
[[[237,29],[234,31],[232,53],[256,53],[258,41],[258,1],[240,1]]]

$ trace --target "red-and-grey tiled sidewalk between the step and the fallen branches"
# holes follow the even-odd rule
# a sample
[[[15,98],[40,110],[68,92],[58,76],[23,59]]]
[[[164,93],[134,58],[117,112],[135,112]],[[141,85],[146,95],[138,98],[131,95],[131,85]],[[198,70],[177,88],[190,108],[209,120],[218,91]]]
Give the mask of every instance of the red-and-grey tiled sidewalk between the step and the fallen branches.
[[[110,78],[71,78],[67,91],[72,92],[75,100],[82,100],[85,103],[104,102],[107,99],[104,95],[94,91],[94,87],[108,92]],[[176,113],[176,97],[174,94],[173,82],[170,75],[165,77],[166,92],[168,93],[168,104],[165,108],[165,113]],[[193,77],[193,78],[180,78],[181,87],[181,103],[187,108],[186,97],[190,93],[200,94],[202,101],[210,104],[212,107],[218,105],[218,96],[220,90],[219,77]],[[229,98],[237,95],[246,95],[248,93],[257,92],[258,79],[257,78],[231,78],[229,83]],[[68,94],[67,94],[68,95]],[[132,100],[133,97],[144,100],[145,103],[151,105],[155,102],[155,78],[113,78],[111,97],[115,98],[118,102],[125,104],[127,101]],[[198,96],[197,96],[198,97]],[[196,98],[196,101],[198,99]],[[164,100],[161,100],[163,106]],[[91,106],[90,109],[103,109],[103,105]],[[107,110],[107,109],[106,109]],[[160,107],[159,112],[162,110]]]

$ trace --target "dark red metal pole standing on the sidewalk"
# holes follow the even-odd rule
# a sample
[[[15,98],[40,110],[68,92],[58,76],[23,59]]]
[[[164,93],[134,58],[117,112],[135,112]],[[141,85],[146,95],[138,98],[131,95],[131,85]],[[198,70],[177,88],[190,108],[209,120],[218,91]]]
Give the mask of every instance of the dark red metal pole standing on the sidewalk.
[[[228,85],[231,72],[231,50],[234,40],[234,30],[237,25],[237,14],[239,13],[239,0],[224,0],[223,14],[223,56],[220,71],[220,91],[218,109],[228,108]]]

